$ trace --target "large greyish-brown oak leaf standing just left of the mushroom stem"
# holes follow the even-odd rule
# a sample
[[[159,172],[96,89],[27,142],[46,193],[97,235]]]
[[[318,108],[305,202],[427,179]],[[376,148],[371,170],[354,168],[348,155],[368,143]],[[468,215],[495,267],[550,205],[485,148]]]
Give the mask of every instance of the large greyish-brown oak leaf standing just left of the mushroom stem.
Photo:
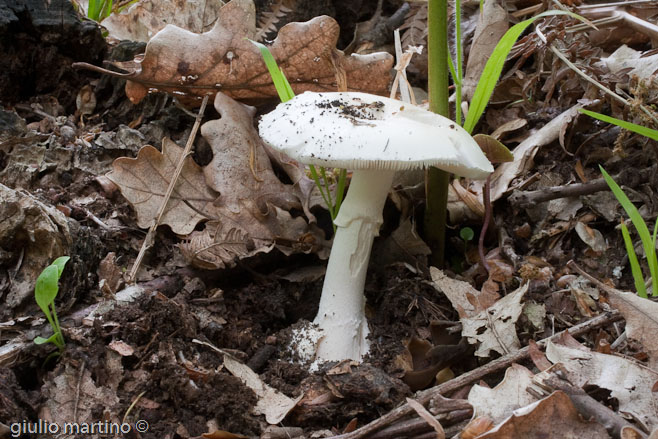
[[[201,134],[213,151],[205,181],[219,196],[208,212],[210,222],[180,245],[185,257],[201,268],[224,268],[275,247],[283,253],[314,251],[324,242],[318,228],[287,211],[300,209],[301,192],[284,185],[253,125],[255,109],[223,93],[215,97],[220,119],[206,122]]]

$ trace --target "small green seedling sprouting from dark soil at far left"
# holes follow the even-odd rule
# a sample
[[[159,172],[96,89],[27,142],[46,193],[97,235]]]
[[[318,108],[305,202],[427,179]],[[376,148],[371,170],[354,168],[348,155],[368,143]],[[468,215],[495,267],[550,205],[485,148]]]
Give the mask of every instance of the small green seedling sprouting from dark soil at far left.
[[[34,287],[34,298],[37,305],[39,305],[41,311],[46,315],[48,323],[50,323],[50,327],[53,329],[53,335],[48,338],[36,337],[34,343],[52,343],[59,348],[59,353],[64,351],[66,342],[64,341],[62,328],[59,326],[59,319],[55,310],[55,298],[59,291],[57,283],[69,259],[68,256],[61,256],[55,259],[52,264],[43,269]]]

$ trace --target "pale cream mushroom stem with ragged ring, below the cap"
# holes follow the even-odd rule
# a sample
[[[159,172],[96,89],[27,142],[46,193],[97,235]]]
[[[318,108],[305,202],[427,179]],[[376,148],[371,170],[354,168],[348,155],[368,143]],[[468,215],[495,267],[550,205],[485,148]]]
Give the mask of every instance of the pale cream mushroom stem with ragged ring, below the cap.
[[[316,363],[352,359],[368,353],[369,333],[363,294],[368,260],[383,222],[382,211],[395,171],[354,171],[335,219],[336,236],[314,323],[322,330]]]

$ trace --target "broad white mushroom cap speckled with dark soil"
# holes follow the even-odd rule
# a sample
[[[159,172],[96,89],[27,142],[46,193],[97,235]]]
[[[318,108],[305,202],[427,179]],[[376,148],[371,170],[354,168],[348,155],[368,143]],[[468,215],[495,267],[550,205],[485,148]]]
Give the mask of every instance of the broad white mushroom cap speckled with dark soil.
[[[268,145],[305,164],[392,171],[436,166],[470,178],[493,171],[457,123],[367,93],[305,92],[264,115],[258,128]]]

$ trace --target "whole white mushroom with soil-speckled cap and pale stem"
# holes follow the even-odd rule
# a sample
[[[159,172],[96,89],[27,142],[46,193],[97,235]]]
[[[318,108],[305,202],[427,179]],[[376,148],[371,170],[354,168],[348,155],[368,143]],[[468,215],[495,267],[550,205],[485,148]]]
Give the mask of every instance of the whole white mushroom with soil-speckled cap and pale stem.
[[[303,93],[263,116],[259,131],[272,148],[301,163],[354,171],[334,221],[314,320],[322,331],[315,361],[360,361],[369,350],[363,294],[368,260],[395,172],[436,166],[486,178],[493,167],[450,119],[365,93]]]

